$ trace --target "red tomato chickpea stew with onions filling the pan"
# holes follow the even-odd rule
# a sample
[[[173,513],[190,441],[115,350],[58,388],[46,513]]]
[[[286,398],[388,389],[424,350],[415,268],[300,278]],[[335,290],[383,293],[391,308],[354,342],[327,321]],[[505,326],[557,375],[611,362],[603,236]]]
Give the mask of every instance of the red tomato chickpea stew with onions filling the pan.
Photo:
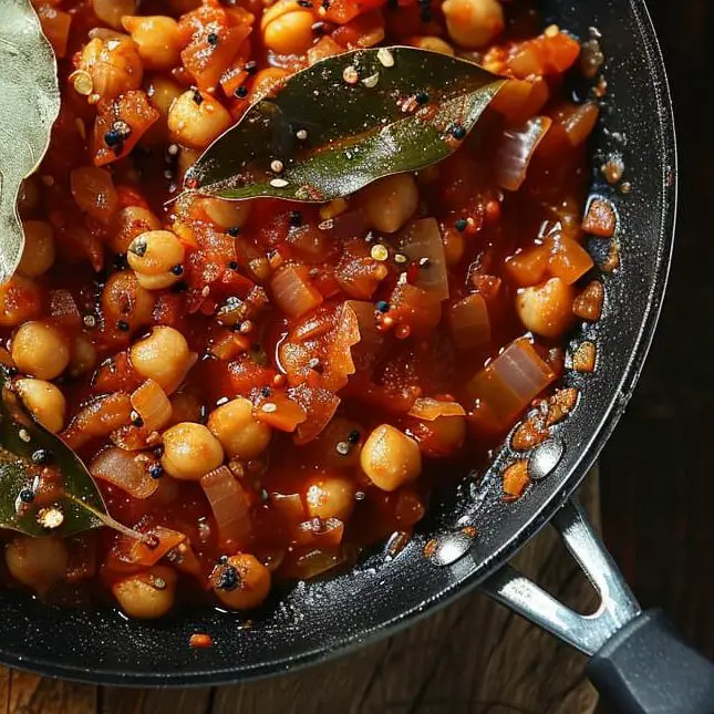
[[[141,619],[197,598],[251,610],[403,542],[444,474],[485,463],[552,393],[575,321],[599,317],[581,227],[598,104],[563,89],[578,40],[520,0],[34,4],[62,111],[21,196],[2,361],[152,540],[9,536],[10,581]],[[251,103],[383,43],[508,77],[451,157],[323,205],[174,200]]]

